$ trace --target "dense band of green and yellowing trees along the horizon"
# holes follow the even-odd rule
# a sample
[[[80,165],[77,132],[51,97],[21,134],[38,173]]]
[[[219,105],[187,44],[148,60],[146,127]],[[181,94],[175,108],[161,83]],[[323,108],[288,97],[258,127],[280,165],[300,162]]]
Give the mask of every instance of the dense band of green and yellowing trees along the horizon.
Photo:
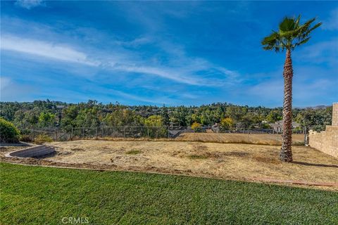
[[[120,103],[63,103],[59,101],[0,102],[0,117],[27,129],[72,127],[204,127],[215,123],[225,129],[270,128],[282,120],[282,108],[249,107],[231,103],[200,106],[158,107]],[[301,128],[325,130],[332,120],[332,107],[294,108],[292,117]]]

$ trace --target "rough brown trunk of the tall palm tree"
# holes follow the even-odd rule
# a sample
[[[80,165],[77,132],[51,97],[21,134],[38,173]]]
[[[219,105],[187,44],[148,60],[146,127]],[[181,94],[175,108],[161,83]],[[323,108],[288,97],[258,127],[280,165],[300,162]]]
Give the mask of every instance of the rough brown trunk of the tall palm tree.
[[[291,51],[287,50],[287,57],[284,63],[284,105],[283,105],[283,135],[280,160],[292,162],[292,70]]]

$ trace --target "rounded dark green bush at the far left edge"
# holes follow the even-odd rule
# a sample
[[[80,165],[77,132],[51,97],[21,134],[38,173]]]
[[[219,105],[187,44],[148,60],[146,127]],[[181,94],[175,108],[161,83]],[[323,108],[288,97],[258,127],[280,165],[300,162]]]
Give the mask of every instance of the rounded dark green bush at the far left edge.
[[[15,143],[20,139],[20,131],[11,122],[0,118],[0,142]]]

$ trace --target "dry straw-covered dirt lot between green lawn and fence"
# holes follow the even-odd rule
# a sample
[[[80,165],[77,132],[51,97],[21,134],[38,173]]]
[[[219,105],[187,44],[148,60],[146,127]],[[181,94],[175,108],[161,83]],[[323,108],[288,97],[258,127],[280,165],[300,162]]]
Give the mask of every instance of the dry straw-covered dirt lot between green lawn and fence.
[[[241,143],[82,140],[48,145],[56,147],[56,155],[39,160],[1,158],[36,165],[338,184],[338,159],[305,146],[293,146],[294,162],[283,163],[278,160],[280,146]],[[3,147],[1,155],[6,152]]]

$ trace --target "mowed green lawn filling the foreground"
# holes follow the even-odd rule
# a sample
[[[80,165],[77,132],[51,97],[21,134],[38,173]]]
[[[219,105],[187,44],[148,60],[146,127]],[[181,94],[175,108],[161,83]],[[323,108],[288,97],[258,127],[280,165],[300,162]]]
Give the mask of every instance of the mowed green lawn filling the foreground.
[[[338,193],[137,172],[0,164],[0,224],[338,224]]]

